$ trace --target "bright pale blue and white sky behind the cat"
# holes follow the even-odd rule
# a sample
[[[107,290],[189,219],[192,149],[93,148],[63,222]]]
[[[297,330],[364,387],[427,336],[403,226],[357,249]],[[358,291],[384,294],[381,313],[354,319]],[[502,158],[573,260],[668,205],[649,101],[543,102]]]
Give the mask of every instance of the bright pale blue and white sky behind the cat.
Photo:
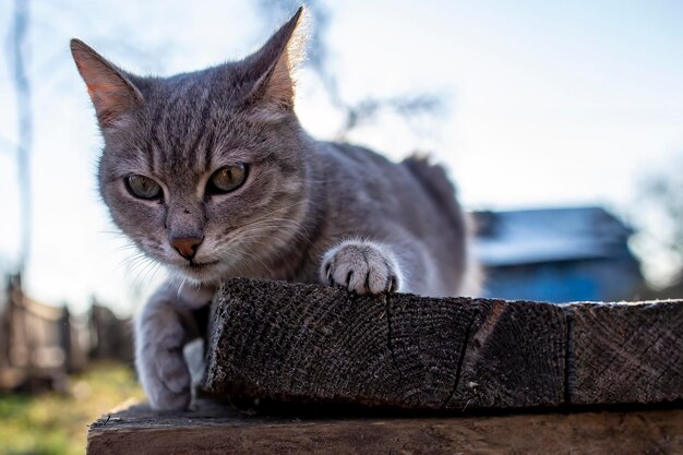
[[[84,7],[87,4],[87,7]],[[381,116],[350,140],[399,159],[429,151],[465,206],[602,205],[637,213],[639,182],[683,153],[683,3],[678,1],[326,1],[329,64],[349,103],[436,94],[445,109],[407,128]],[[7,40],[13,1],[0,0]],[[136,311],[163,279],[99,201],[101,147],[69,53],[80,37],[127,70],[169,75],[239,59],[278,25],[255,2],[33,1],[28,74],[35,142],[28,292],[83,311],[93,295]],[[281,17],[286,20],[287,17]],[[315,24],[312,24],[315,26]],[[16,106],[0,48],[0,272],[19,256]],[[342,116],[303,68],[303,127],[331,139]],[[652,276],[667,271],[650,271]]]

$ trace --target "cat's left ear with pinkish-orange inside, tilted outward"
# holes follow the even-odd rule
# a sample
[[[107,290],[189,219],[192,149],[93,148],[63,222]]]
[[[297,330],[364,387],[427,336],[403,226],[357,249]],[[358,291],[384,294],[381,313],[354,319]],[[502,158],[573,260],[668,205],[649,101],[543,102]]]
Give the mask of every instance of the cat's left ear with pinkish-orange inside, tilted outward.
[[[123,116],[143,101],[142,94],[130,79],[85,43],[72,39],[71,53],[103,130],[116,127]]]

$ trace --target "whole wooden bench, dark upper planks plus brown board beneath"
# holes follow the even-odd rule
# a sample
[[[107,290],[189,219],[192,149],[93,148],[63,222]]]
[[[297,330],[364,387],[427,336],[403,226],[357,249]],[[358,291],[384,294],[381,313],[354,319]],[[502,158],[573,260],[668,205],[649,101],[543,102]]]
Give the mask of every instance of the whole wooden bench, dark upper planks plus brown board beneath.
[[[361,297],[233,279],[211,334],[208,391],[289,406],[140,405],[95,422],[88,454],[683,453],[681,301]]]

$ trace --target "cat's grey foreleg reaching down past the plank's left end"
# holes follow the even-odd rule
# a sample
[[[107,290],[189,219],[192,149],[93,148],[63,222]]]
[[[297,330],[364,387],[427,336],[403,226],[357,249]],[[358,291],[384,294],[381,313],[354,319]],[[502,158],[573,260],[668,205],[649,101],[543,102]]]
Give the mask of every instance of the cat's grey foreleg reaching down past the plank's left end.
[[[154,409],[184,409],[191,376],[183,346],[199,335],[192,311],[206,306],[213,291],[167,283],[149,299],[135,324],[135,367]]]

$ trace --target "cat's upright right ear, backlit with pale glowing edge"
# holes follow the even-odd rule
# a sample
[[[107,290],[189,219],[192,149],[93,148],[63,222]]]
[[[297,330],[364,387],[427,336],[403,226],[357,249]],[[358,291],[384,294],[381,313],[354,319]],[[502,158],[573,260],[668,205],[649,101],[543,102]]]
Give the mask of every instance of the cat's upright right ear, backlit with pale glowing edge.
[[[304,16],[303,7],[300,7],[256,53],[244,61],[255,80],[247,103],[261,116],[278,118],[293,110],[295,71],[305,50]]]

